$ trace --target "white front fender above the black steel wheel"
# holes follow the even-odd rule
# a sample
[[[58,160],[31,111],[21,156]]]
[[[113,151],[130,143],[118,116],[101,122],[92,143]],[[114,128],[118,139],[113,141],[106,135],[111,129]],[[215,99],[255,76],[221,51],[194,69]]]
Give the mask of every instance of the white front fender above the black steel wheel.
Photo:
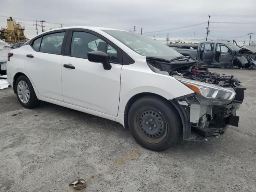
[[[172,100],[194,92],[172,76],[153,72],[146,62],[123,66],[117,122],[124,126],[124,111],[128,101],[141,93],[156,94]]]

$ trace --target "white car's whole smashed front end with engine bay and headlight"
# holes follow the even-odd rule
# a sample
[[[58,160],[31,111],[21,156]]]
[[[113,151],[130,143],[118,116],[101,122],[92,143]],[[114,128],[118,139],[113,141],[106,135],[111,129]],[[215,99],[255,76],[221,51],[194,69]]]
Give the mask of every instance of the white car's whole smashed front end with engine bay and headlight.
[[[188,57],[173,62],[159,58],[147,61],[152,71],[173,76],[194,91],[170,100],[182,118],[184,140],[208,140],[224,134],[228,125],[238,126],[236,112],[246,88],[237,78],[198,68],[196,61]]]

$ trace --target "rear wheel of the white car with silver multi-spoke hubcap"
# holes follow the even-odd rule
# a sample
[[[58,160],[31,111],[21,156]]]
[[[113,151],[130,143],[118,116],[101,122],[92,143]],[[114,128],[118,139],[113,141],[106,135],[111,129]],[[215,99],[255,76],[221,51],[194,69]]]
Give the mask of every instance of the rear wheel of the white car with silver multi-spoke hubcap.
[[[30,80],[22,75],[15,83],[16,96],[20,104],[25,108],[35,108],[39,106],[40,100],[36,97],[34,88]]]

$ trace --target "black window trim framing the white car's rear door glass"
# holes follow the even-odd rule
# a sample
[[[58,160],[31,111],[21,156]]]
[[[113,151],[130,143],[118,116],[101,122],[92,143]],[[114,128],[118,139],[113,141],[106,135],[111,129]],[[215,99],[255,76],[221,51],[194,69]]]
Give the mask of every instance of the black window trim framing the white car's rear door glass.
[[[70,29],[62,29],[62,30],[55,30],[55,31],[50,31],[50,32],[46,32],[46,33],[43,33],[41,35],[38,35],[36,37],[34,37],[32,40],[30,40],[30,47],[36,51],[36,52],[40,52],[40,53],[47,53],[47,54],[54,54],[54,55],[64,55],[64,52],[65,52],[65,48],[66,48],[66,40],[67,40],[67,37],[68,37],[68,33],[69,33],[69,30]],[[57,54],[57,53],[48,53],[48,52],[42,52],[40,51],[41,49],[41,44],[42,44],[42,40],[44,38],[44,36],[46,35],[50,35],[50,34],[54,34],[54,33],[61,33],[61,32],[65,32],[65,35],[64,35],[64,38],[63,38],[63,41],[62,41],[62,47],[61,47],[61,50],[60,50],[60,54]],[[40,42],[40,47],[39,47],[39,50],[37,51],[34,47],[33,47],[33,43],[35,40],[37,40],[38,38],[41,38],[41,42]]]

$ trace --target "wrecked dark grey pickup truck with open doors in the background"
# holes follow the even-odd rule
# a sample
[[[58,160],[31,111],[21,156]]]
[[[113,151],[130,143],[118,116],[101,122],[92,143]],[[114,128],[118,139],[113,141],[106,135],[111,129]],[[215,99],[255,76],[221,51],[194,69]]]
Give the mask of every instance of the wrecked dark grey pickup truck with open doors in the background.
[[[185,46],[174,49],[184,56],[198,60],[198,64],[216,67],[256,68],[256,52],[249,46],[242,48],[229,41],[200,42],[197,49]]]

